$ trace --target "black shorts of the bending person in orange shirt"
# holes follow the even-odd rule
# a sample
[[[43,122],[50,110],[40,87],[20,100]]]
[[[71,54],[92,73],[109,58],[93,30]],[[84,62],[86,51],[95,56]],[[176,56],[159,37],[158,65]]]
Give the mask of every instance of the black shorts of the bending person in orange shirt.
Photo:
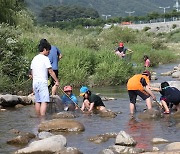
[[[146,100],[150,97],[150,95],[146,91],[140,91],[140,90],[128,90],[130,102],[135,104],[137,95],[140,96],[143,100]]]

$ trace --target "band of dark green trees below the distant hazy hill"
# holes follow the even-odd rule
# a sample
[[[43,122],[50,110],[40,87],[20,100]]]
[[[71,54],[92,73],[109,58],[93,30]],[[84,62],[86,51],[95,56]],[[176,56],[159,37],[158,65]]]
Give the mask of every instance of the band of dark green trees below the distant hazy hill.
[[[51,15],[51,18],[49,15],[44,16],[43,21],[41,21],[41,24],[48,25],[51,27],[57,27],[60,29],[74,29],[77,27],[92,27],[92,26],[103,26],[104,24],[108,23],[123,23],[123,22],[129,22],[129,23],[149,23],[149,22],[162,22],[164,21],[164,18],[166,21],[172,20],[172,18],[176,19],[180,17],[180,12],[172,11],[168,12],[166,14],[160,14],[157,12],[148,13],[146,16],[128,16],[128,17],[111,17],[107,20],[104,20],[102,18],[77,18],[76,14],[73,12],[68,12],[70,15],[72,15],[71,20],[63,20],[61,21],[60,18],[54,18]],[[58,16],[58,15],[56,15]],[[73,19],[74,16],[74,19]],[[61,17],[61,15],[60,15]],[[47,18],[47,20],[45,20]],[[49,18],[49,19],[48,19]],[[68,18],[68,15],[63,16],[64,19]],[[54,20],[56,19],[56,20]]]

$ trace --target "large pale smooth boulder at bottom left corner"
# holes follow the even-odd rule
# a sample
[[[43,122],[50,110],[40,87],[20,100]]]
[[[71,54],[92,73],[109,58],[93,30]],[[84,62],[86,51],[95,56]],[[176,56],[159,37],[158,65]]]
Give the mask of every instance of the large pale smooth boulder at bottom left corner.
[[[66,146],[66,138],[62,135],[54,135],[46,139],[34,141],[28,147],[20,149],[15,154],[55,153]]]

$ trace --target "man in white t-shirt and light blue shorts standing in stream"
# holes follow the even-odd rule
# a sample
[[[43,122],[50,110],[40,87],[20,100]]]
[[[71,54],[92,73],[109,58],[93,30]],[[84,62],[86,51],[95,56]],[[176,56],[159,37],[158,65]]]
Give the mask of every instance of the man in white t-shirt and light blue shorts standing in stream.
[[[51,50],[51,45],[46,41],[40,42],[39,54],[31,62],[31,74],[33,77],[33,91],[35,94],[35,110],[37,115],[46,114],[47,103],[50,102],[48,90],[48,73],[55,80],[55,85],[59,86],[59,80],[52,70],[49,58],[47,57]]]

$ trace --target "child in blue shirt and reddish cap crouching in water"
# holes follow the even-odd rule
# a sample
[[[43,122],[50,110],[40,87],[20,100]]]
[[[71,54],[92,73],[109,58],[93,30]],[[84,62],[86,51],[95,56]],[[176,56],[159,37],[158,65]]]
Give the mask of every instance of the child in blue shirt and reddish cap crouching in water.
[[[72,93],[71,86],[65,86],[64,95],[61,97],[62,102],[64,104],[64,110],[74,111],[76,109],[76,104],[78,105],[77,97]]]

